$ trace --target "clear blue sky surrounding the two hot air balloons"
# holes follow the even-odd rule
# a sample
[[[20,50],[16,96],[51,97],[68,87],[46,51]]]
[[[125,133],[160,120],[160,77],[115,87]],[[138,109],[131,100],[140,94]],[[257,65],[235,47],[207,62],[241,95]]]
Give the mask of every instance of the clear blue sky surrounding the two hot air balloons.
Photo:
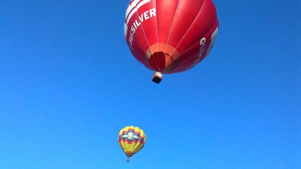
[[[0,1],[0,169],[300,169],[300,0],[214,0],[193,69],[151,82],[129,0]],[[126,125],[147,142],[130,163]]]

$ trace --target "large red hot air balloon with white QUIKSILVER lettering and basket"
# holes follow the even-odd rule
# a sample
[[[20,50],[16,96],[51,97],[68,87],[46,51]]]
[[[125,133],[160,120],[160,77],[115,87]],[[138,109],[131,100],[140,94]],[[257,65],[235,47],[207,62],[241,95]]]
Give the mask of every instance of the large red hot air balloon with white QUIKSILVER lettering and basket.
[[[210,52],[218,33],[212,0],[131,0],[124,35],[134,57],[162,74],[191,69]]]

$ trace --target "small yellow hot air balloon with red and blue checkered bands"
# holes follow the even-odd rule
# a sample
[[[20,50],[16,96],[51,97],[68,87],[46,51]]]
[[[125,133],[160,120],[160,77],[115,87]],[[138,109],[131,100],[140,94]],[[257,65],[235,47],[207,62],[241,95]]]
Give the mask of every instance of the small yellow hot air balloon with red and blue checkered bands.
[[[130,157],[139,152],[146,141],[144,131],[139,127],[126,126],[119,131],[118,143],[127,155],[127,161],[130,161]]]

